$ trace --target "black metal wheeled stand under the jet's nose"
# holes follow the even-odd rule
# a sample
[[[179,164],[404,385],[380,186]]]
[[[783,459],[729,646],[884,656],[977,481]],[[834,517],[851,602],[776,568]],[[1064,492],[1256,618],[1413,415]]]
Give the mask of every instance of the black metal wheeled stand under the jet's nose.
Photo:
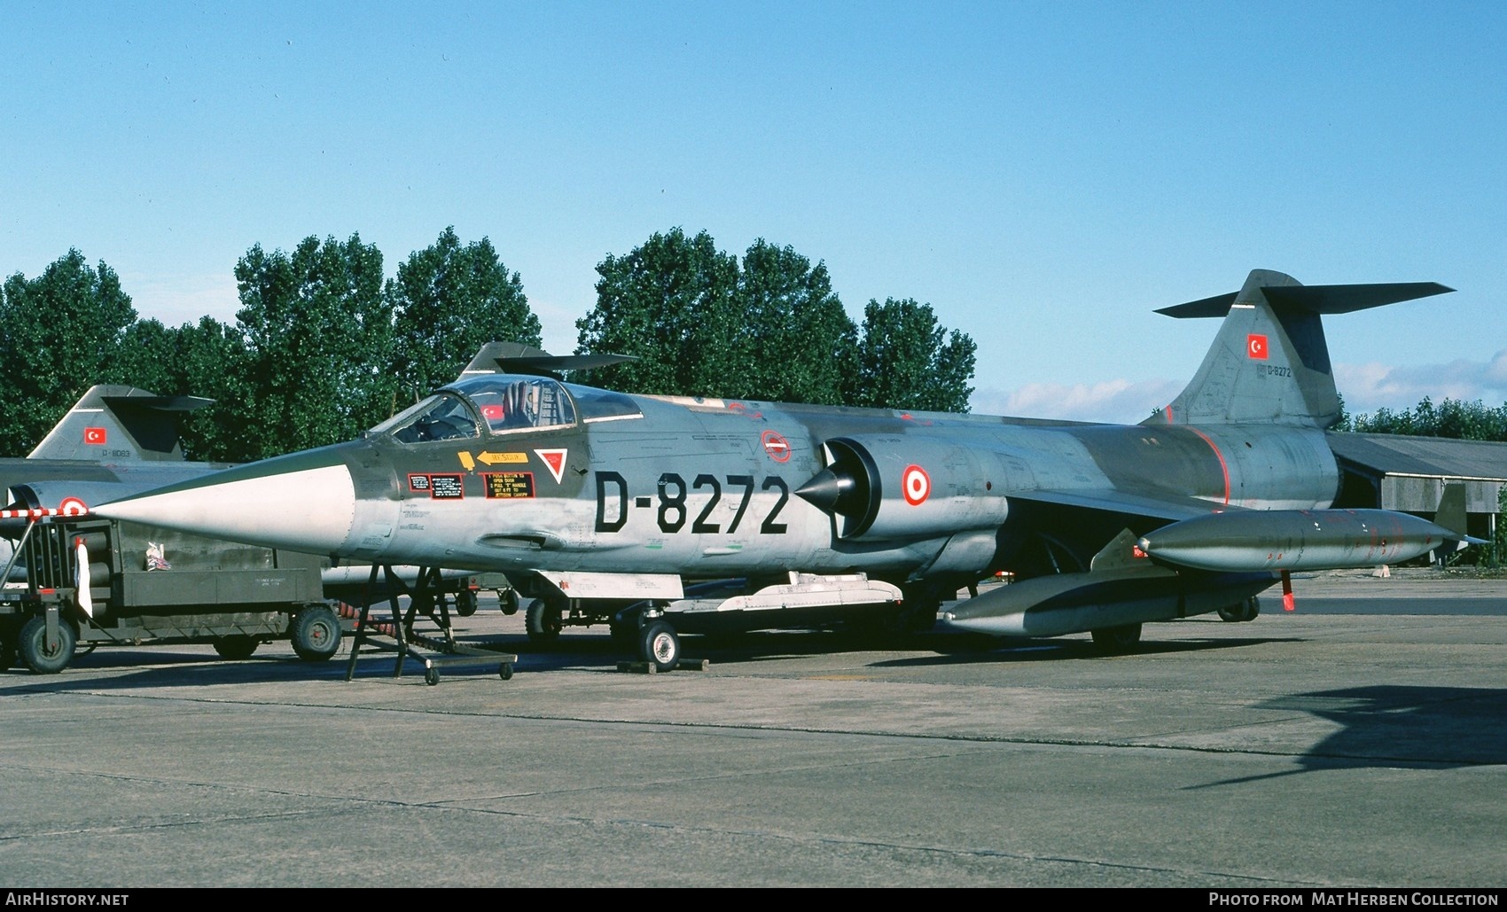
[[[378,621],[371,617],[371,592],[377,592],[377,574],[381,573],[387,592],[387,604],[392,609],[392,621]],[[496,665],[497,677],[509,680],[512,666],[518,657],[512,653],[500,653],[479,647],[464,645],[455,641],[451,627],[451,595],[445,591],[439,567],[423,567],[410,588],[392,567],[374,565],[366,586],[368,595],[360,601],[360,607],[342,606],[342,614],[356,618],[356,635],[351,639],[351,656],[345,666],[345,680],[356,677],[356,660],[363,648],[378,653],[396,653],[392,677],[402,677],[402,663],[413,659],[423,665],[423,683],[440,683],[442,668]],[[405,595],[408,609],[404,611],[398,598]],[[420,633],[414,624],[428,620],[434,626],[434,633]],[[381,642],[374,638],[389,638],[393,642]]]

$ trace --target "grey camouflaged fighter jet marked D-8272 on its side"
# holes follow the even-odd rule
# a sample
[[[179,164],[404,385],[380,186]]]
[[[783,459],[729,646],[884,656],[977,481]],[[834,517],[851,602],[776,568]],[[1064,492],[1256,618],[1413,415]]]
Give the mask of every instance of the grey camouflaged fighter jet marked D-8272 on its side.
[[[1204,612],[1251,620],[1293,570],[1465,541],[1331,510],[1338,419],[1320,315],[1451,291],[1304,286],[1160,311],[1221,317],[1198,374],[1138,425],[624,395],[512,347],[362,439],[96,506],[101,516],[377,564],[502,571],[529,633],[607,623],[660,669],[681,632],[868,620],[1001,636]],[[601,363],[598,360],[591,363]],[[977,591],[977,589],[971,589]]]

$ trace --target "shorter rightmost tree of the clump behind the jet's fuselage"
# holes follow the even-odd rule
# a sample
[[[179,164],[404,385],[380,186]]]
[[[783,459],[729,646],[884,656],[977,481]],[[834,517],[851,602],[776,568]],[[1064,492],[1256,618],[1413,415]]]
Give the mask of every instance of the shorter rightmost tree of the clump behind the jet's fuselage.
[[[864,308],[850,401],[876,409],[967,412],[975,350],[967,335],[948,335],[937,326],[931,305],[871,300]]]

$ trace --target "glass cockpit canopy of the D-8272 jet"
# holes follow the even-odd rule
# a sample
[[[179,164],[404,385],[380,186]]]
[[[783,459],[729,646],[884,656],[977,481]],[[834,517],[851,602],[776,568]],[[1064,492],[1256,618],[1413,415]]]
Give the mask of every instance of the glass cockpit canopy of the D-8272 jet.
[[[550,377],[490,374],[446,386],[381,422],[371,434],[390,434],[401,443],[423,443],[624,418],[642,418],[642,413],[622,393]]]

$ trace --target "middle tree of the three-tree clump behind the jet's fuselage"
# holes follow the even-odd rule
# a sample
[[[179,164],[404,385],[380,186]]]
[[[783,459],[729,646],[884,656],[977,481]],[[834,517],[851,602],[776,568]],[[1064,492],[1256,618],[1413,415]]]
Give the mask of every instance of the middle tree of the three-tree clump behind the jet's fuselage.
[[[826,264],[764,238],[743,255],[734,292],[740,312],[735,393],[781,402],[841,406],[857,357],[857,327],[832,291]]]

